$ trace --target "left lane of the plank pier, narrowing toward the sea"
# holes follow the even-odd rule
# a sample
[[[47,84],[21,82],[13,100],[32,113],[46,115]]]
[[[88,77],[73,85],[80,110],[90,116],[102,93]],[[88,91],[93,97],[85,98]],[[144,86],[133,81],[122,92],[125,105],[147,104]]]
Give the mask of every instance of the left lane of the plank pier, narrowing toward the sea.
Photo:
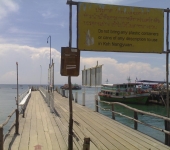
[[[13,136],[11,133],[5,142],[4,149],[66,150],[67,145],[55,118],[55,114],[50,112],[40,92],[32,92],[25,118],[20,118],[20,135]]]

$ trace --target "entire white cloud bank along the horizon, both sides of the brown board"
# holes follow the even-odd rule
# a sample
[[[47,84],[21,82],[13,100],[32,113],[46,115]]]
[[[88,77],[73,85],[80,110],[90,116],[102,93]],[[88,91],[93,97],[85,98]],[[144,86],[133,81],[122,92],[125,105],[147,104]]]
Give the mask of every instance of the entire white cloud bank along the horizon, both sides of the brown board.
[[[40,65],[42,66],[42,83],[47,83],[48,66],[50,63],[49,47],[30,47],[14,44],[0,44],[0,83],[16,83],[16,62],[19,64],[19,82],[38,84],[40,81]],[[61,54],[56,49],[51,49],[51,58],[55,63],[55,83],[67,83],[67,77],[60,75],[60,57]],[[164,80],[165,68],[153,67],[148,63],[143,62],[127,62],[119,63],[113,58],[84,58],[80,59],[80,75],[72,77],[72,83],[81,84],[81,70],[84,66],[91,68],[103,64],[103,83],[106,79],[109,83],[127,82],[127,77],[130,75],[132,82],[138,79],[147,80]]]

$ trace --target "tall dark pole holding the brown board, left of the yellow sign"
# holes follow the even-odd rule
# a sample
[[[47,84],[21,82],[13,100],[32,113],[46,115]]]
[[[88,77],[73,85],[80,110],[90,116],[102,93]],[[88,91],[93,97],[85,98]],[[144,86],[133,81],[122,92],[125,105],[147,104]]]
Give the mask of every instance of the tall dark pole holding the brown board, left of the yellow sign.
[[[72,2],[72,0],[70,0]],[[69,5],[69,48],[72,47],[72,4]],[[72,87],[71,87],[71,76],[68,76],[69,85],[69,136],[68,136],[68,149],[73,149],[73,110],[72,110]]]

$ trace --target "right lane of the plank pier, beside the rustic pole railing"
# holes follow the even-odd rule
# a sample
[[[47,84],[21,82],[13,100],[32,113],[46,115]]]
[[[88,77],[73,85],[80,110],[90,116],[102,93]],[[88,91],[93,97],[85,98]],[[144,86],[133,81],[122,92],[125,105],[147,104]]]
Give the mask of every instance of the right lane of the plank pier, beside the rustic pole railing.
[[[55,92],[55,108],[64,126],[68,126],[68,99]],[[74,141],[90,137],[93,149],[166,150],[168,146],[121,123],[73,102]],[[75,142],[76,143],[76,142]],[[92,144],[93,143],[93,144]]]

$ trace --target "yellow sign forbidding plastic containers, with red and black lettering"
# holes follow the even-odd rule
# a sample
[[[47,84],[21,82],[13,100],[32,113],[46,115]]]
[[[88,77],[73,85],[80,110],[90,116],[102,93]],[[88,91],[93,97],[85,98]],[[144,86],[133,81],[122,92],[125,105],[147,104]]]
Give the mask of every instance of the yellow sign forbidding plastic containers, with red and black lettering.
[[[164,10],[79,3],[78,49],[162,53]]]

